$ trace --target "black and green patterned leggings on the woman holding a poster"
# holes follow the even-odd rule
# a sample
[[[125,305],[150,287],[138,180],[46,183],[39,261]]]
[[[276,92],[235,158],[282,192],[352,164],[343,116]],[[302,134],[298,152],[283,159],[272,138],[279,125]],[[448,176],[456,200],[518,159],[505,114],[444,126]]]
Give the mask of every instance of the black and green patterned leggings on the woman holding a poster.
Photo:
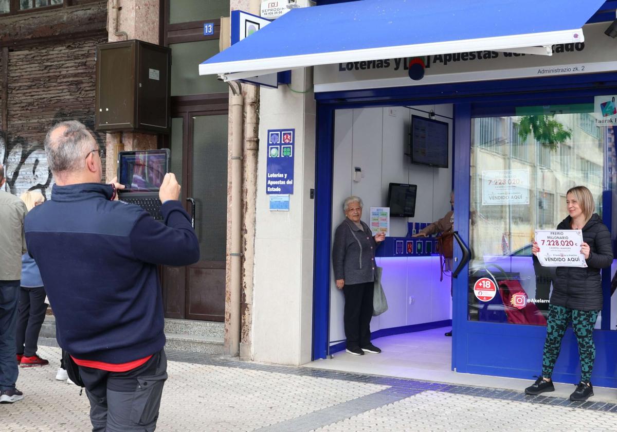
[[[546,326],[546,341],[542,355],[542,376],[550,378],[561,348],[561,339],[566,333],[570,320],[579,345],[581,357],[581,381],[589,382],[594,368],[595,345],[594,326],[599,310],[568,309],[563,306],[549,305],[549,319]]]

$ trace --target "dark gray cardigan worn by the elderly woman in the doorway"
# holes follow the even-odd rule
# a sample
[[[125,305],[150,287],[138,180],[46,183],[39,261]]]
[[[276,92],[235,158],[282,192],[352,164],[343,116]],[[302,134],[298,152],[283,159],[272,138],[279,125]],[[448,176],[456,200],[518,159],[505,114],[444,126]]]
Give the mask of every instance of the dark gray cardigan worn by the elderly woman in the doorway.
[[[345,285],[373,282],[375,280],[375,249],[378,244],[366,223],[360,230],[345,218],[334,231],[332,265],[334,279],[344,279]]]

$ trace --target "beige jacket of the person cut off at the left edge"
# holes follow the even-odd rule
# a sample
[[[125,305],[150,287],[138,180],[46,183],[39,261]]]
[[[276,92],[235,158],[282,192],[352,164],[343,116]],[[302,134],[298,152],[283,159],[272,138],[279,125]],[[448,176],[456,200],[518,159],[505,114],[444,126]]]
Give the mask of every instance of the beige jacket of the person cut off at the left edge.
[[[0,280],[22,278],[22,255],[26,253],[23,218],[28,210],[13,194],[0,191]]]

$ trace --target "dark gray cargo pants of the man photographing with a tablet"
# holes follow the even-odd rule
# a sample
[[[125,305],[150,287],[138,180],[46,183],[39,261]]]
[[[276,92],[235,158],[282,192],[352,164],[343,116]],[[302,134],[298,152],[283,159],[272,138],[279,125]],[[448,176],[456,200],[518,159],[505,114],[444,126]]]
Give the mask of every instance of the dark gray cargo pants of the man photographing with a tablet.
[[[152,432],[159,418],[167,380],[167,357],[161,350],[127,372],[79,367],[90,401],[93,432]]]

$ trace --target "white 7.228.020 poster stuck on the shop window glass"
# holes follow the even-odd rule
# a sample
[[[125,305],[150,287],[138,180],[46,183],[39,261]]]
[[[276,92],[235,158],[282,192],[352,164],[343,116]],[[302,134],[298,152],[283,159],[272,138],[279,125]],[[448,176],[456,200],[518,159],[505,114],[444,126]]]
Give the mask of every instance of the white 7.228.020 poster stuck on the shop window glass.
[[[482,206],[529,204],[529,169],[482,171]]]

